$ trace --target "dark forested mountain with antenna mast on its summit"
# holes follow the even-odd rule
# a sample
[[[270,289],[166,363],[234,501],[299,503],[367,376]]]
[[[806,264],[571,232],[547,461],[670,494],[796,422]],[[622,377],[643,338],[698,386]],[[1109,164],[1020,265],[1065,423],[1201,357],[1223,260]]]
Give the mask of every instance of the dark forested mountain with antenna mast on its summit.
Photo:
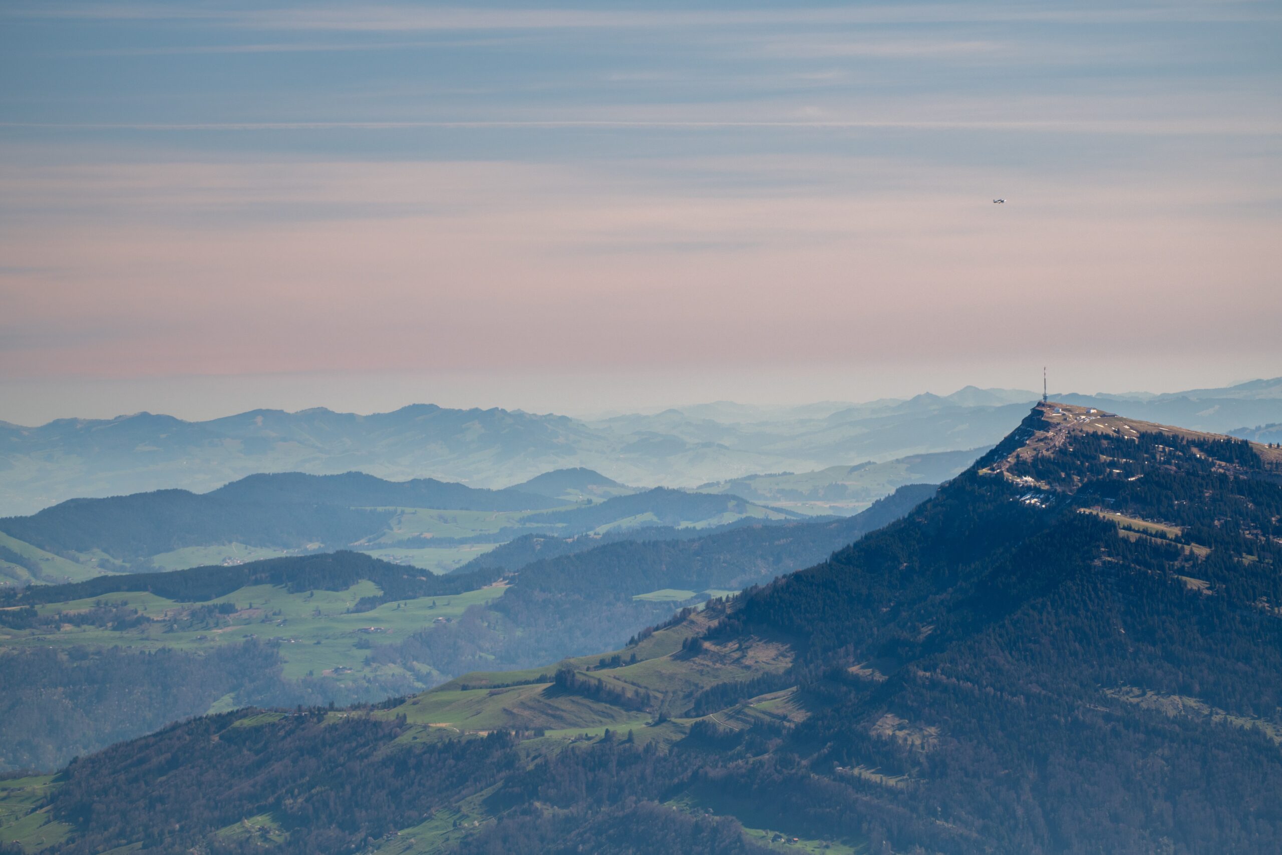
[[[1276,852],[1279,523],[1277,450],[1038,405],[900,522],[617,652],[200,718],[6,799],[76,854]]]

